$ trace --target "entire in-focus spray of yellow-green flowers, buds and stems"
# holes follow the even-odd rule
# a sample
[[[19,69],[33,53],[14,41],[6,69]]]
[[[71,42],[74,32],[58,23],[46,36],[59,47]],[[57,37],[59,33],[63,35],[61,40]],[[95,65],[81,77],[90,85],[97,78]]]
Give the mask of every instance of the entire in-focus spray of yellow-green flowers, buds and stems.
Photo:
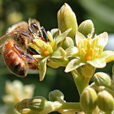
[[[65,72],[73,75],[80,102],[66,102],[63,93],[55,90],[49,94],[50,101],[44,97],[25,99],[16,105],[16,109],[22,114],[47,114],[52,111],[63,114],[79,111],[87,114],[113,113],[114,82],[105,73],[94,75],[96,68],[103,68],[107,62],[114,61],[114,51],[104,51],[108,33],[95,34],[91,20],[78,26],[75,13],[66,3],[58,11],[57,18],[58,28],[47,31],[44,38],[35,34],[29,46],[38,53],[33,57],[38,60],[40,81],[45,77],[47,65],[65,67]],[[93,75],[94,82],[89,85]]]

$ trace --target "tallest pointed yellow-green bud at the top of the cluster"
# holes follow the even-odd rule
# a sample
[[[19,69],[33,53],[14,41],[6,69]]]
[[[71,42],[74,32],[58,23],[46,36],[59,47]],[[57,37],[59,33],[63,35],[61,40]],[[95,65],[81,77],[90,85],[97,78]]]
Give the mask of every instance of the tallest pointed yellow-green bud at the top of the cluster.
[[[67,3],[65,3],[58,11],[57,18],[58,18],[58,28],[62,32],[66,31],[69,28],[72,28],[68,36],[73,38],[78,29],[78,25],[77,25],[76,15]]]

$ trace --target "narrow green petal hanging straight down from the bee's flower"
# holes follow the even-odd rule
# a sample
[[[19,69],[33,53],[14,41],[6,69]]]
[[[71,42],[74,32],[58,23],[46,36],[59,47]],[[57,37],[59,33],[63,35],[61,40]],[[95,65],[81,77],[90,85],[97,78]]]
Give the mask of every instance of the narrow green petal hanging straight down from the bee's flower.
[[[39,77],[40,77],[40,81],[42,81],[45,77],[46,74],[46,63],[47,63],[47,59],[48,57],[44,58],[43,60],[41,60],[39,63]]]

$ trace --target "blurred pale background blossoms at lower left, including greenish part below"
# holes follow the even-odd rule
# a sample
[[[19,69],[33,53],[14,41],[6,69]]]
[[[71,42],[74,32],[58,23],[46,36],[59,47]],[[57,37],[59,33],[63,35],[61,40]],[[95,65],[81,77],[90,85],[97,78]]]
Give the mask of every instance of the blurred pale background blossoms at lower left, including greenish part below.
[[[3,107],[4,114],[19,114],[14,105],[23,99],[31,98],[34,93],[33,85],[23,85],[20,81],[6,82],[6,95],[3,96],[5,103]]]

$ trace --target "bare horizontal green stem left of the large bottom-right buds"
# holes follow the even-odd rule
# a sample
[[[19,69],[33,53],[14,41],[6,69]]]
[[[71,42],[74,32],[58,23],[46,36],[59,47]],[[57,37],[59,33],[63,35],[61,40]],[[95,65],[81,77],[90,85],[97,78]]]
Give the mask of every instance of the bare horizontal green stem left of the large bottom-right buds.
[[[75,109],[76,112],[82,111],[80,103],[66,102],[62,104],[62,109]]]

